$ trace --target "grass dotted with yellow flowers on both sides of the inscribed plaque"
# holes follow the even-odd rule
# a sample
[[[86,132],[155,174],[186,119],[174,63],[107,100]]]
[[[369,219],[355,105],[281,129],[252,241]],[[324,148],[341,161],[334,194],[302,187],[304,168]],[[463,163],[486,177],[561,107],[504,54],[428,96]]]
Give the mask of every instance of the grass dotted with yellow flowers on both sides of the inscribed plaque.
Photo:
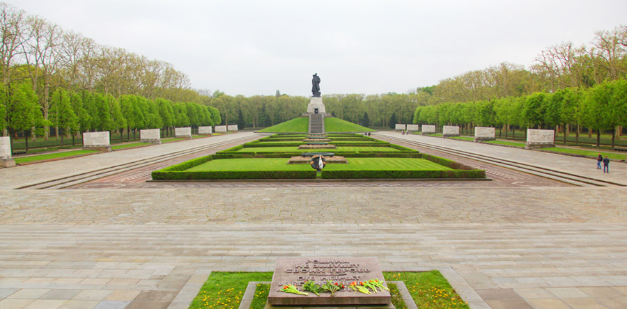
[[[416,306],[420,309],[468,309],[460,296],[453,290],[440,271],[424,272],[385,272],[383,277],[389,281],[403,281]],[[190,309],[237,309],[250,281],[268,282],[272,273],[229,273],[214,271],[201,287],[198,295],[189,306]],[[398,289],[388,285],[392,294],[392,303],[397,309],[407,308],[398,297]],[[270,286],[258,284],[251,309],[262,309],[268,301]]]

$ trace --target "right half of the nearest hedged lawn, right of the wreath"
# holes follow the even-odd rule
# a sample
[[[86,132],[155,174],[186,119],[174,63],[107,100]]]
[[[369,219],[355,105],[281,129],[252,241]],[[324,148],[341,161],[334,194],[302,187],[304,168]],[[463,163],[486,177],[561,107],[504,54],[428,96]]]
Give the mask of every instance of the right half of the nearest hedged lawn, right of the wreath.
[[[440,164],[416,158],[347,158],[348,164],[327,164],[324,171],[451,171]]]

